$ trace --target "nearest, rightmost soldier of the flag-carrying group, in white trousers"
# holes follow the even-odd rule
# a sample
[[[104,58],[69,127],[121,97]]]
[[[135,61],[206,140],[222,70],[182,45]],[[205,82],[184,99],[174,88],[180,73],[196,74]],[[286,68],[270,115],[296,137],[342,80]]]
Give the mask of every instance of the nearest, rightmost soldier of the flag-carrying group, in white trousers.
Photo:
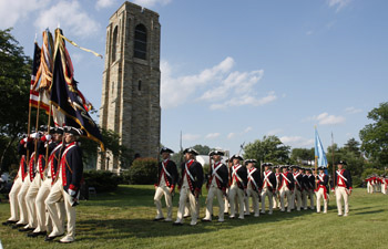
[[[68,217],[68,234],[60,240],[60,242],[70,243],[75,240],[75,206],[78,205],[80,196],[80,186],[83,174],[82,151],[78,145],[82,131],[71,126],[65,126],[63,128],[65,147],[61,154],[55,181],[44,201],[50,212],[53,229],[44,240],[51,241],[64,234],[55,205],[61,198],[63,198]]]

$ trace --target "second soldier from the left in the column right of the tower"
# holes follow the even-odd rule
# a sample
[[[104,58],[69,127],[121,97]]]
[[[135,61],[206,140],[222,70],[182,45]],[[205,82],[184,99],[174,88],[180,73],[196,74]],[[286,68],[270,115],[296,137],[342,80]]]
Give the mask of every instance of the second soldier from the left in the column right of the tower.
[[[183,225],[183,214],[186,205],[186,200],[190,200],[190,209],[192,221],[190,225],[195,226],[197,222],[197,207],[198,207],[198,198],[201,194],[201,188],[203,184],[203,168],[202,165],[195,160],[195,156],[198,153],[194,148],[186,148],[183,151],[185,163],[182,163],[182,178],[178,185],[180,191],[180,207],[177,210],[176,221],[173,224],[174,226]]]

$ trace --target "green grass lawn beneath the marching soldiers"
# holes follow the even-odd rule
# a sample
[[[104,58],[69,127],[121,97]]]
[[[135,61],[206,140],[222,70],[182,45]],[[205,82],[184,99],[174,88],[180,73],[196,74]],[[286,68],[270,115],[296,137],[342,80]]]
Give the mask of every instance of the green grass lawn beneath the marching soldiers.
[[[355,189],[350,214],[338,217],[333,194],[328,214],[313,210],[275,210],[274,215],[225,222],[190,220],[182,227],[155,222],[153,186],[120,186],[115,193],[98,194],[76,207],[76,241],[45,242],[43,237],[0,227],[3,248],[388,248],[388,196]],[[178,195],[174,198],[176,218]],[[164,201],[164,199],[163,199]],[[268,201],[266,201],[268,203]],[[215,205],[216,206],[216,205]],[[205,212],[201,198],[201,215]],[[165,210],[165,209],[164,209]],[[215,207],[214,214],[218,210]],[[0,220],[9,217],[9,204],[0,204]],[[216,220],[216,219],[215,219]]]

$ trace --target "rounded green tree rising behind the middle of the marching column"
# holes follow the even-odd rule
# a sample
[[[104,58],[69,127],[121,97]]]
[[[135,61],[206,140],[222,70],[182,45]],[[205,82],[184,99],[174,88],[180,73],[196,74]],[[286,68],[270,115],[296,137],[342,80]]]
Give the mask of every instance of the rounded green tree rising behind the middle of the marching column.
[[[287,163],[289,149],[277,136],[264,136],[262,141],[256,139],[244,147],[244,157],[257,162]]]

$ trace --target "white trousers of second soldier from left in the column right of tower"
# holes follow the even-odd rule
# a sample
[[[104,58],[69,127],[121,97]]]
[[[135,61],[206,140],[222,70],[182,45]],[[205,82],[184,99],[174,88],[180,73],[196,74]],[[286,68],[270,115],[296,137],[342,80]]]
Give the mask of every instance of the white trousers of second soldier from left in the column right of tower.
[[[197,221],[197,207],[198,207],[198,200],[195,198],[193,193],[190,190],[188,187],[182,186],[181,193],[180,193],[180,207],[177,209],[176,215],[176,222],[183,222],[183,215],[185,212],[186,203],[190,203],[190,211],[192,216],[192,222]]]

